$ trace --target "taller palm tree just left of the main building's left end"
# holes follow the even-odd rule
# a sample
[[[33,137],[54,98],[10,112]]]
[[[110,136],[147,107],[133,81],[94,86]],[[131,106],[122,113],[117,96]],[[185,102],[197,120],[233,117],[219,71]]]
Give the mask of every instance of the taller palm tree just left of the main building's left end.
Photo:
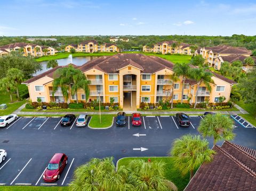
[[[18,96],[18,99],[19,99],[20,95],[19,95],[19,88],[18,87],[24,79],[23,72],[21,70],[17,69],[17,68],[11,68],[7,71],[6,77],[9,78],[11,83],[15,85],[15,88],[17,90],[17,96]]]

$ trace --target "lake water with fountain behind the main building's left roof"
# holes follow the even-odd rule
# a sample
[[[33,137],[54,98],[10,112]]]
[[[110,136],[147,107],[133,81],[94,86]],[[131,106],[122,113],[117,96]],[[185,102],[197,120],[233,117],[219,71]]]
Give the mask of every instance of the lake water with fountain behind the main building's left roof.
[[[83,65],[86,62],[97,59],[98,56],[79,56],[79,57],[73,57],[73,64],[75,65]],[[70,64],[70,59],[57,59],[57,62],[59,65],[67,65]],[[46,72],[47,70],[50,70],[51,68],[47,69],[47,61],[40,62],[42,65],[42,70],[37,71],[34,76],[37,76],[38,74],[41,74],[43,72]]]

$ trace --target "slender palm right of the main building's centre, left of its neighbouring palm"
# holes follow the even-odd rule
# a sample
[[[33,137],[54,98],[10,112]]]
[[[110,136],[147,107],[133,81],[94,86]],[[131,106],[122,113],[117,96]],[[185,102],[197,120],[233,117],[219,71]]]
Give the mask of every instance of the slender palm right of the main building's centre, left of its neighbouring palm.
[[[181,76],[182,80],[182,92],[181,92],[181,104],[183,103],[183,93],[184,86],[187,77],[189,76],[190,67],[187,63],[176,63],[173,67],[173,71],[177,74],[178,77]]]

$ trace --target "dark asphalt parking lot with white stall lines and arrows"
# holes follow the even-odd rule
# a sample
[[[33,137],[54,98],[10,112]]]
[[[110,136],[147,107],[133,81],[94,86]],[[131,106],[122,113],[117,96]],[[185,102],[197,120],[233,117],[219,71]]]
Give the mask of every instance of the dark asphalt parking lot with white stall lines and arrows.
[[[66,186],[73,172],[92,157],[113,156],[115,162],[129,156],[167,156],[175,138],[199,134],[200,116],[190,116],[191,125],[179,127],[174,116],[143,116],[142,126],[133,127],[126,117],[125,127],[90,129],[61,127],[61,118],[19,118],[0,128],[0,149],[7,158],[0,164],[0,185]],[[234,143],[256,149],[256,129],[235,122]],[[210,138],[210,147],[213,140]],[[221,144],[221,143],[218,143]],[[68,165],[57,182],[42,180],[54,153],[65,153]]]

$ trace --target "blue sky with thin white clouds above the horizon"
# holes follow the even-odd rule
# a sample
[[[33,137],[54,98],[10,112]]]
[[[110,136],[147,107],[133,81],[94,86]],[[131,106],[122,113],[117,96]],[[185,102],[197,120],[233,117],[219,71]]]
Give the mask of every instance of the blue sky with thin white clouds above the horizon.
[[[0,36],[256,35],[256,0],[0,0]]]

